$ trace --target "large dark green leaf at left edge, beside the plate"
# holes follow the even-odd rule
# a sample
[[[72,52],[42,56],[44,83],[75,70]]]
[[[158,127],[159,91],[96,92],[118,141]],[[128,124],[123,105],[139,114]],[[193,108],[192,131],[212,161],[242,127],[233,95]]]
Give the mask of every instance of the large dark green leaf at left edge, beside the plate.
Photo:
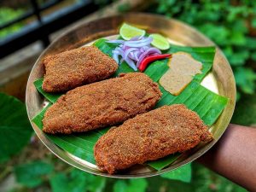
[[[0,93],[0,163],[20,152],[32,136],[26,107],[13,96]]]

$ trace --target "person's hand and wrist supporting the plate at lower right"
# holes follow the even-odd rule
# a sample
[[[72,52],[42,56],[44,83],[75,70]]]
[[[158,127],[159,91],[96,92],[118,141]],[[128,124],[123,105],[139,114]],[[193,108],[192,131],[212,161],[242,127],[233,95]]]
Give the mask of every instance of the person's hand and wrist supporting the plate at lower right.
[[[230,124],[224,135],[197,160],[249,191],[256,191],[256,129]]]

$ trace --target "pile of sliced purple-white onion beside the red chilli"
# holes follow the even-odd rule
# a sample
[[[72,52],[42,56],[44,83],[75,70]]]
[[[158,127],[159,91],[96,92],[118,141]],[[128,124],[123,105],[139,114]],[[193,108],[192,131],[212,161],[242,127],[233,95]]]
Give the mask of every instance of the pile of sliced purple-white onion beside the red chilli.
[[[134,70],[140,66],[144,58],[149,55],[160,55],[160,49],[152,47],[150,44],[153,38],[138,36],[131,38],[128,41],[117,39],[110,40],[109,44],[119,44],[113,52],[113,60],[121,64],[126,61],[127,64]],[[119,60],[120,57],[120,60]]]

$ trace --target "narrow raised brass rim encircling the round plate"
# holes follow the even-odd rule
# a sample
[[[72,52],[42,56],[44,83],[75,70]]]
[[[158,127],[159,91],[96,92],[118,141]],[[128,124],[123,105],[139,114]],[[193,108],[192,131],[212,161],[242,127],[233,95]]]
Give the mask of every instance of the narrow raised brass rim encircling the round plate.
[[[30,105],[31,101],[30,100],[32,99],[31,92],[32,92],[32,90],[35,90],[35,88],[32,87],[33,77],[35,76],[35,73],[38,73],[38,72],[36,72],[36,68],[38,67],[38,65],[42,65],[42,63],[40,63],[40,60],[44,57],[44,55],[46,55],[49,52],[49,50],[51,49],[51,47],[53,45],[57,44],[61,40],[61,38],[65,38],[68,34],[75,32],[75,30],[79,30],[80,26],[86,26],[86,25],[88,26],[88,25],[90,25],[90,23],[93,23],[93,22],[94,23],[97,23],[97,22],[101,23],[104,20],[113,20],[113,22],[114,22],[114,20],[119,20],[120,17],[121,17],[121,19],[123,19],[123,21],[129,20],[129,18],[130,18],[130,20],[134,20],[135,18],[138,18],[138,17],[145,17],[145,18],[150,19],[150,20],[161,20],[161,22],[171,22],[172,21],[172,23],[175,23],[176,25],[182,26],[186,30],[189,30],[189,32],[194,32],[198,37],[205,40],[208,45],[214,45],[214,46],[217,47],[217,50],[218,50],[219,54],[221,55],[223,62],[225,63],[225,67],[228,70],[228,72],[230,73],[230,83],[231,83],[230,87],[231,87],[233,92],[232,92],[231,97],[230,97],[230,102],[228,103],[229,110],[226,111],[227,107],[224,109],[225,113],[229,114],[228,117],[226,117],[225,122],[222,125],[225,128],[219,132],[218,137],[216,139],[214,139],[211,143],[208,143],[207,146],[205,146],[204,148],[199,149],[195,153],[196,155],[192,155],[192,158],[187,158],[185,160],[182,160],[182,161],[176,163],[175,165],[166,167],[166,168],[164,168],[160,171],[144,172],[144,173],[137,173],[137,174],[113,174],[113,175],[111,175],[111,174],[108,174],[106,172],[99,172],[99,171],[93,170],[89,167],[84,166],[82,163],[79,162],[79,160],[75,160],[72,157],[70,157],[64,150],[62,150],[61,148],[56,146],[55,143],[51,143],[49,141],[49,139],[47,137],[45,137],[43,131],[41,131],[38,128],[38,126],[35,125],[32,122],[31,105]],[[214,61],[214,63],[215,63],[215,61]],[[213,67],[214,67],[214,65],[213,65]],[[35,95],[38,96],[38,93],[35,93]],[[27,86],[26,86],[26,111],[27,111],[27,115],[28,115],[28,118],[29,118],[29,120],[32,124],[33,130],[36,132],[36,134],[39,137],[39,139],[41,140],[41,142],[44,143],[44,145],[47,148],[49,148],[49,150],[53,154],[55,154],[61,160],[65,161],[67,164],[69,164],[71,166],[74,166],[76,168],[79,168],[80,170],[82,170],[84,172],[90,172],[92,174],[96,174],[96,175],[103,176],[103,177],[116,177],[116,178],[153,177],[153,176],[163,174],[165,172],[170,172],[174,169],[177,169],[179,166],[184,166],[184,165],[188,164],[189,162],[192,162],[192,161],[196,160],[202,154],[205,154],[210,148],[212,148],[212,146],[215,143],[217,143],[218,139],[223,135],[225,129],[227,128],[227,126],[230,123],[230,119],[232,117],[232,114],[234,113],[235,104],[236,104],[236,83],[235,83],[234,75],[232,73],[229,62],[225,58],[222,51],[218,48],[218,46],[216,44],[213,44],[210,39],[208,39],[206,36],[204,36],[201,32],[198,32],[194,27],[189,26],[189,25],[183,23],[182,21],[175,20],[175,19],[168,19],[168,18],[166,18],[162,15],[153,15],[153,14],[144,14],[144,13],[129,13],[129,14],[125,14],[125,15],[113,15],[113,16],[109,16],[109,17],[103,17],[103,18],[100,18],[100,19],[97,19],[97,20],[92,20],[92,21],[89,21],[89,22],[84,22],[84,23],[80,24],[79,26],[73,26],[71,29],[67,30],[67,32],[64,32],[59,38],[56,38],[49,45],[49,47],[47,49],[45,49],[44,52],[38,57],[38,60],[35,62],[34,66],[32,67],[32,72],[29,75],[29,79],[27,81]]]

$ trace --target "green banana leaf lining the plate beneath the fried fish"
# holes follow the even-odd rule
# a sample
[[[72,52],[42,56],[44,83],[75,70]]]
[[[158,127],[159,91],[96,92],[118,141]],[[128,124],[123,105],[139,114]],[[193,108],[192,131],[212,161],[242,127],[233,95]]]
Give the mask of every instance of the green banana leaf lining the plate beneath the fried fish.
[[[112,56],[112,50],[117,46],[117,44],[108,44],[105,39],[99,39],[96,41],[95,45],[102,50],[105,54]],[[160,108],[163,105],[172,105],[174,103],[183,103],[189,109],[194,110],[199,114],[201,119],[206,125],[211,126],[220,113],[222,113],[228,99],[224,96],[218,96],[207,88],[201,86],[201,80],[207,75],[209,70],[212,68],[212,62],[215,55],[214,47],[200,47],[200,48],[191,48],[191,47],[180,47],[172,45],[172,48],[167,52],[175,53],[177,51],[184,51],[192,55],[196,60],[201,61],[203,64],[202,73],[195,75],[193,81],[183,90],[179,96],[173,96],[162,86],[160,90],[162,92],[162,97],[160,101],[156,104],[155,108]],[[166,73],[168,69],[167,59],[154,61],[148,66],[144,73],[146,73],[154,82],[158,82],[160,77]],[[121,63],[119,69],[114,73],[113,77],[119,75],[119,73],[131,73],[134,72],[131,67],[129,67],[125,62]],[[35,85],[40,93],[44,95],[49,102],[54,103],[60,95],[53,95],[45,93],[42,90],[43,79],[38,79],[35,81]],[[160,84],[159,84],[160,85]],[[49,104],[51,105],[51,104]],[[48,106],[49,107],[49,106]],[[42,119],[46,108],[43,109],[34,119],[33,122],[38,125],[40,129],[43,129]],[[104,133],[109,130],[109,127],[104,128],[98,131],[89,131],[86,133],[75,133],[71,135],[48,135],[56,145],[60,148],[63,148],[67,152],[78,156],[83,160],[87,160],[91,163],[95,163],[93,155],[93,147]],[[177,160],[179,154],[172,154],[160,160],[154,160],[148,162],[148,166],[154,167],[156,170],[160,170],[170,164],[173,161]]]

